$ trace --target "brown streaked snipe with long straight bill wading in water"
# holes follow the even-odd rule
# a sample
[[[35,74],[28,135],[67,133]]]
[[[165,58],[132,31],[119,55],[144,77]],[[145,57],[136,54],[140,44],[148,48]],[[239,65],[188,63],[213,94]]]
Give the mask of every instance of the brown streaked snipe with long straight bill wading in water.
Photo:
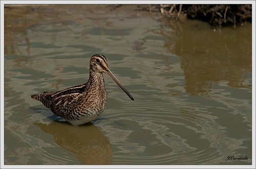
[[[108,74],[131,100],[134,100],[110,71],[108,59],[102,54],[92,56],[87,83],[61,91],[31,95],[31,97],[42,102],[53,114],[66,119],[73,126],[91,122],[102,114],[106,105],[106,89],[102,73]]]

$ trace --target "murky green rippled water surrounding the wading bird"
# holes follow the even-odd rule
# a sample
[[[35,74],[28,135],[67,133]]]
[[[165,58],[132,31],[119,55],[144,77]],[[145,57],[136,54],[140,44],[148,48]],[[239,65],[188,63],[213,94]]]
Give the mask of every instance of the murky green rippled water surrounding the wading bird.
[[[251,24],[131,8],[5,9],[5,164],[251,164]],[[135,101],[104,75],[102,116],[73,127],[30,98],[86,82],[95,53]]]

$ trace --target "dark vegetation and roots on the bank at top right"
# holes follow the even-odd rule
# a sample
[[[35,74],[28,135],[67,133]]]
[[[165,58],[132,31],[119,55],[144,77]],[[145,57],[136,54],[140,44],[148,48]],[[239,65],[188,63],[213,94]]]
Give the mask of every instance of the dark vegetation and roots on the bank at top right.
[[[202,4],[202,5],[138,5],[141,10],[149,12],[161,12],[163,16],[179,20],[180,15],[186,15],[189,19],[200,19],[209,22],[212,26],[242,26],[245,22],[251,22],[251,4]]]

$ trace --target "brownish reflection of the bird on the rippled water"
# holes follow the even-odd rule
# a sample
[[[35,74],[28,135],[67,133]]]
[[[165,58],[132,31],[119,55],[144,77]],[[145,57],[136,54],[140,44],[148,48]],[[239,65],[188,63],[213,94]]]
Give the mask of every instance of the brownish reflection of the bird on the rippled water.
[[[54,136],[60,147],[77,155],[84,164],[111,164],[112,147],[109,139],[92,123],[74,127],[68,122],[37,123],[42,131]]]

